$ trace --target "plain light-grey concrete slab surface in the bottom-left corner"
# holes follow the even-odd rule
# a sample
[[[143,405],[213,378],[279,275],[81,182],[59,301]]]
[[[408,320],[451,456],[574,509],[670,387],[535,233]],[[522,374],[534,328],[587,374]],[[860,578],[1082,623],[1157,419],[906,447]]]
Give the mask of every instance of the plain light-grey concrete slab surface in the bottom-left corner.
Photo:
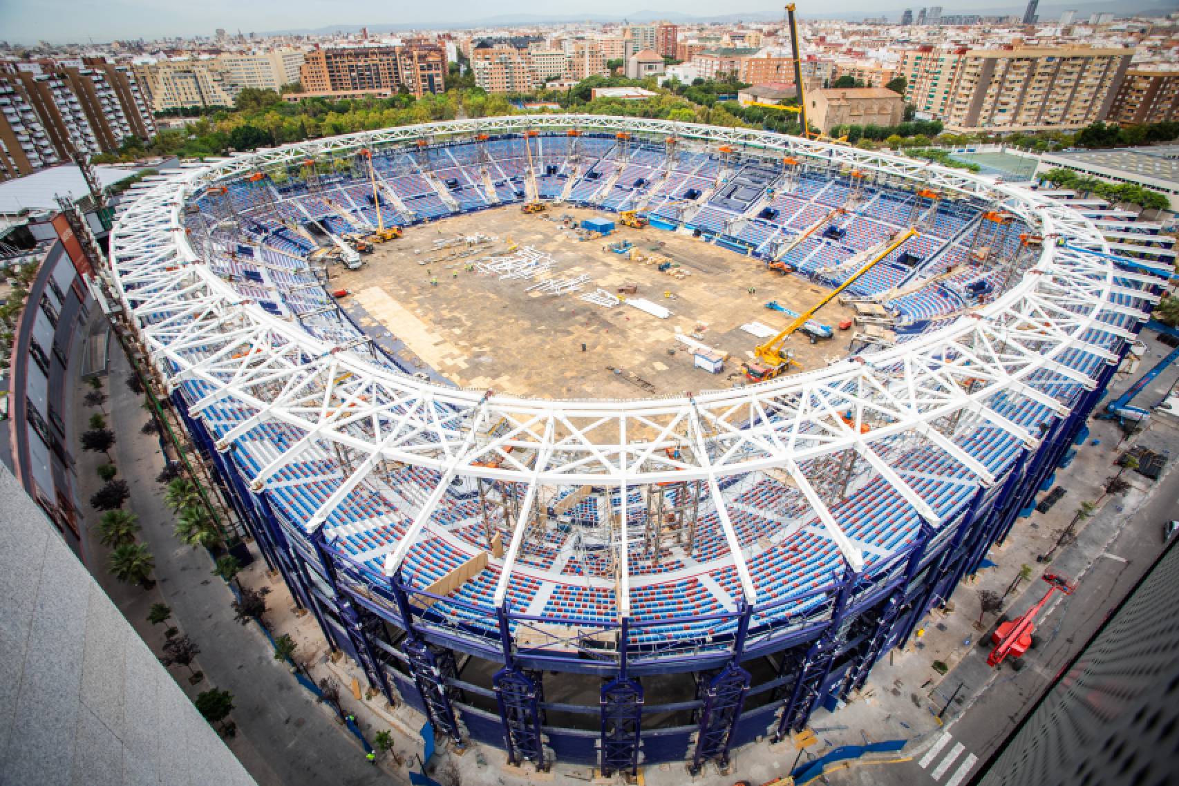
[[[0,782],[253,779],[0,468]]]

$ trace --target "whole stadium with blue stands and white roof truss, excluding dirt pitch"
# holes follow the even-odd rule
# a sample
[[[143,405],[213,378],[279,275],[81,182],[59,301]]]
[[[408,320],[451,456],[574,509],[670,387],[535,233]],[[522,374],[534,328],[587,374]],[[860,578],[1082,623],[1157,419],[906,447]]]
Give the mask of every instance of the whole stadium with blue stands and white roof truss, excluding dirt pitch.
[[[382,354],[305,260],[303,223],[371,226],[376,200],[410,224],[534,198],[639,209],[826,286],[918,226],[849,289],[896,342],[685,396],[468,390]],[[607,773],[724,762],[854,698],[1081,444],[1165,271],[1060,196],[591,115],[193,166],[125,211],[111,257],[120,318],[330,643],[456,741]]]

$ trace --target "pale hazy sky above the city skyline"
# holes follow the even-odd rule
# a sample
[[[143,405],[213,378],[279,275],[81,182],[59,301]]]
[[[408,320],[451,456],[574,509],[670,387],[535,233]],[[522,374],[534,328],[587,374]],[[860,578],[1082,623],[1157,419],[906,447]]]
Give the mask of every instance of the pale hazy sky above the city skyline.
[[[934,5],[936,0],[930,0]],[[823,0],[810,4],[824,14],[863,13],[878,15],[914,0],[897,0],[882,6],[872,0]],[[942,13],[954,6],[971,11],[1013,5],[1012,0],[942,0]],[[1041,5],[1046,5],[1041,2]],[[799,4],[799,13],[808,9]],[[707,16],[723,13],[780,13],[780,2],[765,0],[446,0],[444,4],[391,0],[0,0],[0,40],[32,44],[38,40],[95,42],[114,39],[212,35],[218,27],[243,33],[276,29],[317,28],[331,25],[439,24],[461,26],[505,14],[615,15],[644,9],[656,14],[679,13]],[[647,14],[650,15],[650,14]]]

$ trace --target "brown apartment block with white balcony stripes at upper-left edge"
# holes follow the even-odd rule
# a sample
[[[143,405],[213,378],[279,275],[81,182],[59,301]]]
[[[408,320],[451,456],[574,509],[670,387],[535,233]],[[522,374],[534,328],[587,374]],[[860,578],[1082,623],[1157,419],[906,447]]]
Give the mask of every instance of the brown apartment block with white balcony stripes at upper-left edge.
[[[7,62],[0,70],[0,179],[106,153],[156,134],[126,66],[100,59]]]

